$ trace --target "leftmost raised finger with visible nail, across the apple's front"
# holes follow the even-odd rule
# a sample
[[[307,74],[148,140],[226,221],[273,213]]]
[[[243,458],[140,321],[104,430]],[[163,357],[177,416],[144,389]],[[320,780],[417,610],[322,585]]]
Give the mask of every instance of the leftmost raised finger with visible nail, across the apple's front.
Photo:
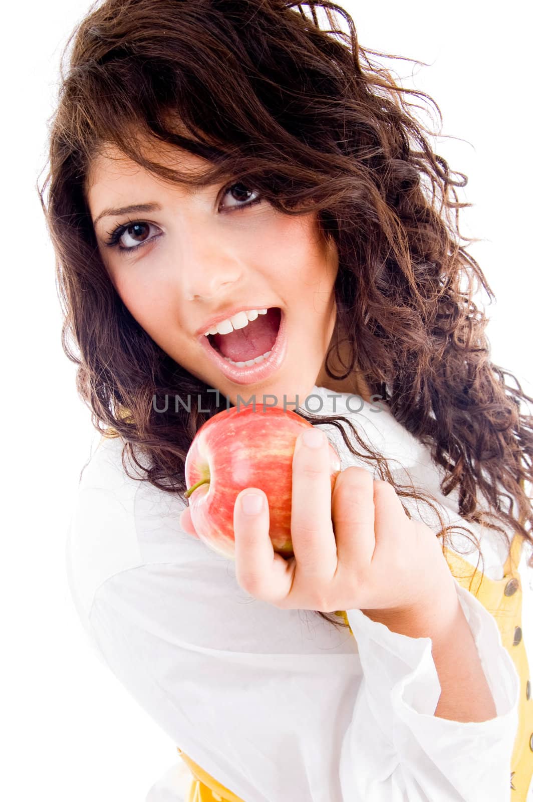
[[[259,497],[260,508],[253,507],[251,496]],[[269,501],[264,492],[242,490],[233,508],[236,580],[252,596],[275,603],[289,593],[292,579],[289,563],[274,552],[269,529]]]

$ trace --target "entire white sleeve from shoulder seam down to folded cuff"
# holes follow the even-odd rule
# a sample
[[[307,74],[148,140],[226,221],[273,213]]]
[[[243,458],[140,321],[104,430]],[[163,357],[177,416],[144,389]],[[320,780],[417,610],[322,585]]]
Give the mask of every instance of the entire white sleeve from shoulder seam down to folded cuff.
[[[90,622],[119,681],[218,782],[245,802],[510,800],[519,678],[468,591],[458,585],[497,709],[480,723],[434,717],[430,638],[348,610],[345,653],[312,649],[313,614],[305,627],[302,611],[256,602],[231,563],[207,557],[115,574]]]

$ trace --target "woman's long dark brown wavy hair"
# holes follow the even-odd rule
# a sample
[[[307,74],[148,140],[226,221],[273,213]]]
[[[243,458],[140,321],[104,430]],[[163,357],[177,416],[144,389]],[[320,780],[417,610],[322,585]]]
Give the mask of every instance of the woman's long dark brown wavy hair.
[[[473,298],[480,286],[494,294],[460,244],[473,240],[458,230],[458,210],[470,204],[458,202],[455,188],[467,178],[433,152],[434,132],[407,99],[429,100],[442,125],[437,103],[398,86],[370,55],[386,54],[363,49],[353,19],[333,2],[93,4],[63,52],[49,169],[38,185],[57,257],[63,350],[78,366],[77,390],[92,423],[123,439],[126,471],[126,456],[140,469],[140,479],[138,472],[131,478],[183,494],[192,438],[226,399],[217,405],[208,386],[170,358],[119,298],[99,256],[87,174],[101,148],[113,144],[176,184],[238,176],[282,213],[315,212],[337,245],[327,375],[365,379],[430,448],[443,468],[442,494],[458,488],[466,522],[497,530],[507,545],[506,529],[517,531],[531,546],[525,483],[531,486],[533,418],[523,403],[533,399],[491,362],[488,321]],[[165,167],[147,157],[147,141],[183,148],[207,168],[191,176]],[[351,350],[341,375],[330,364],[334,351],[341,358],[339,330]],[[190,413],[172,405],[155,411],[155,398],[176,391],[201,398],[200,408],[193,401]],[[386,460],[348,419],[298,411],[311,423],[336,426],[349,451],[400,498],[426,496],[446,550],[449,528],[429,494],[394,481]]]

